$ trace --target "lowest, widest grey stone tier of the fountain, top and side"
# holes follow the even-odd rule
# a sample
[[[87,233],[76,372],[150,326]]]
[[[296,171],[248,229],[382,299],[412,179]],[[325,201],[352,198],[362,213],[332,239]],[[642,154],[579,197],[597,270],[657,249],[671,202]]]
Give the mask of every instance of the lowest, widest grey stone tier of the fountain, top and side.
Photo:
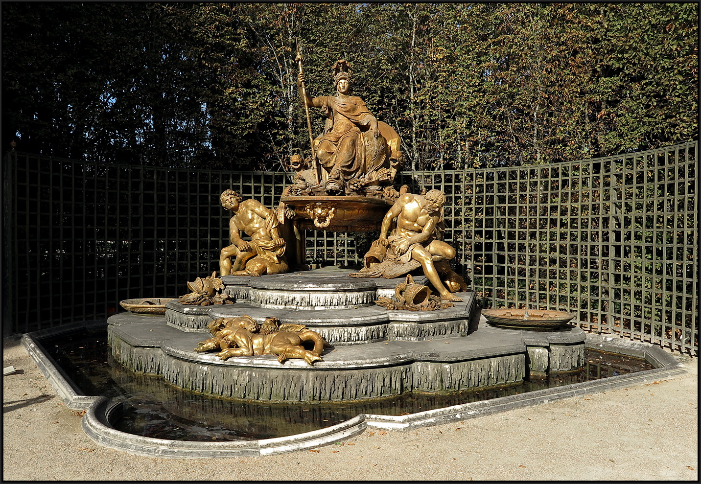
[[[338,346],[325,350],[324,361],[309,366],[302,360],[280,364],[273,355],[222,361],[215,352],[193,351],[207,334],[186,333],[162,322],[126,324],[128,319],[119,318],[120,324],[109,326],[108,333],[113,355],[123,365],[162,375],[193,392],[259,401],[348,401],[507,385],[523,380],[531,369],[579,368],[585,340],[583,331],[570,326],[566,331],[538,333],[537,340],[526,344],[529,333],[482,321],[465,337]],[[411,324],[430,327],[430,323],[404,323]]]

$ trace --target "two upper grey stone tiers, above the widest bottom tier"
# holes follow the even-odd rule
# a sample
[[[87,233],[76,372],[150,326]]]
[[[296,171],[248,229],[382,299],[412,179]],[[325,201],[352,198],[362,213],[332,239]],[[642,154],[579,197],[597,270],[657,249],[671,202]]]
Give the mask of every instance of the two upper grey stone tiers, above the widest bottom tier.
[[[182,331],[207,331],[207,324],[219,317],[247,314],[260,323],[276,317],[283,324],[305,324],[332,345],[421,341],[460,336],[469,330],[474,291],[459,293],[463,301],[444,310],[390,311],[374,305],[374,300],[393,297],[395,286],[404,278],[354,279],[350,272],[328,267],[263,277],[224,276],[224,291],[241,296],[235,304],[193,306],[170,301],[165,321]],[[414,280],[428,284],[423,275]]]

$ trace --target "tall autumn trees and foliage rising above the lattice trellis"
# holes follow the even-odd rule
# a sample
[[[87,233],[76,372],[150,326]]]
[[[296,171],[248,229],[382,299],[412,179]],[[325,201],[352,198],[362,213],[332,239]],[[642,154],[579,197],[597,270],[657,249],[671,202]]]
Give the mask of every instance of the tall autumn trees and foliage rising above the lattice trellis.
[[[407,167],[528,165],[696,139],[698,6],[2,5],[2,145],[280,170],[308,153],[337,59]],[[322,130],[313,113],[315,134]]]

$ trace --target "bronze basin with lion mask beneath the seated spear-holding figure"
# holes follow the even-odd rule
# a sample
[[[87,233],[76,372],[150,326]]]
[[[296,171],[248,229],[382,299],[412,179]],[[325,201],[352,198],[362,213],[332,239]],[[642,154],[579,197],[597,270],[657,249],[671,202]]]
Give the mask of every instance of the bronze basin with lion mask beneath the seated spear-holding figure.
[[[379,230],[392,202],[381,198],[353,195],[305,195],[283,197],[301,219],[301,228],[332,232]]]

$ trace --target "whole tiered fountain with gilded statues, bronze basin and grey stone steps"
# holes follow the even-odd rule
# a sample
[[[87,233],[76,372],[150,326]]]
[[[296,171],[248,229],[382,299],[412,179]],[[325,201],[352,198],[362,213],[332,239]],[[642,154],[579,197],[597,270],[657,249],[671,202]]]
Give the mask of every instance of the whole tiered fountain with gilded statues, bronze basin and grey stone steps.
[[[350,63],[334,64],[334,95],[313,97],[297,62],[306,113],[325,116],[316,137],[308,117],[311,155],[292,156],[278,207],[221,194],[231,216],[219,275],[190,282],[158,328],[111,317],[116,359],[194,392],[285,402],[458,392],[578,368],[579,329],[475,331],[475,291],[451,268],[456,249],[444,240],[446,195],[395,188],[401,139],[352,95]],[[306,230],[379,237],[360,270],[309,270]]]

